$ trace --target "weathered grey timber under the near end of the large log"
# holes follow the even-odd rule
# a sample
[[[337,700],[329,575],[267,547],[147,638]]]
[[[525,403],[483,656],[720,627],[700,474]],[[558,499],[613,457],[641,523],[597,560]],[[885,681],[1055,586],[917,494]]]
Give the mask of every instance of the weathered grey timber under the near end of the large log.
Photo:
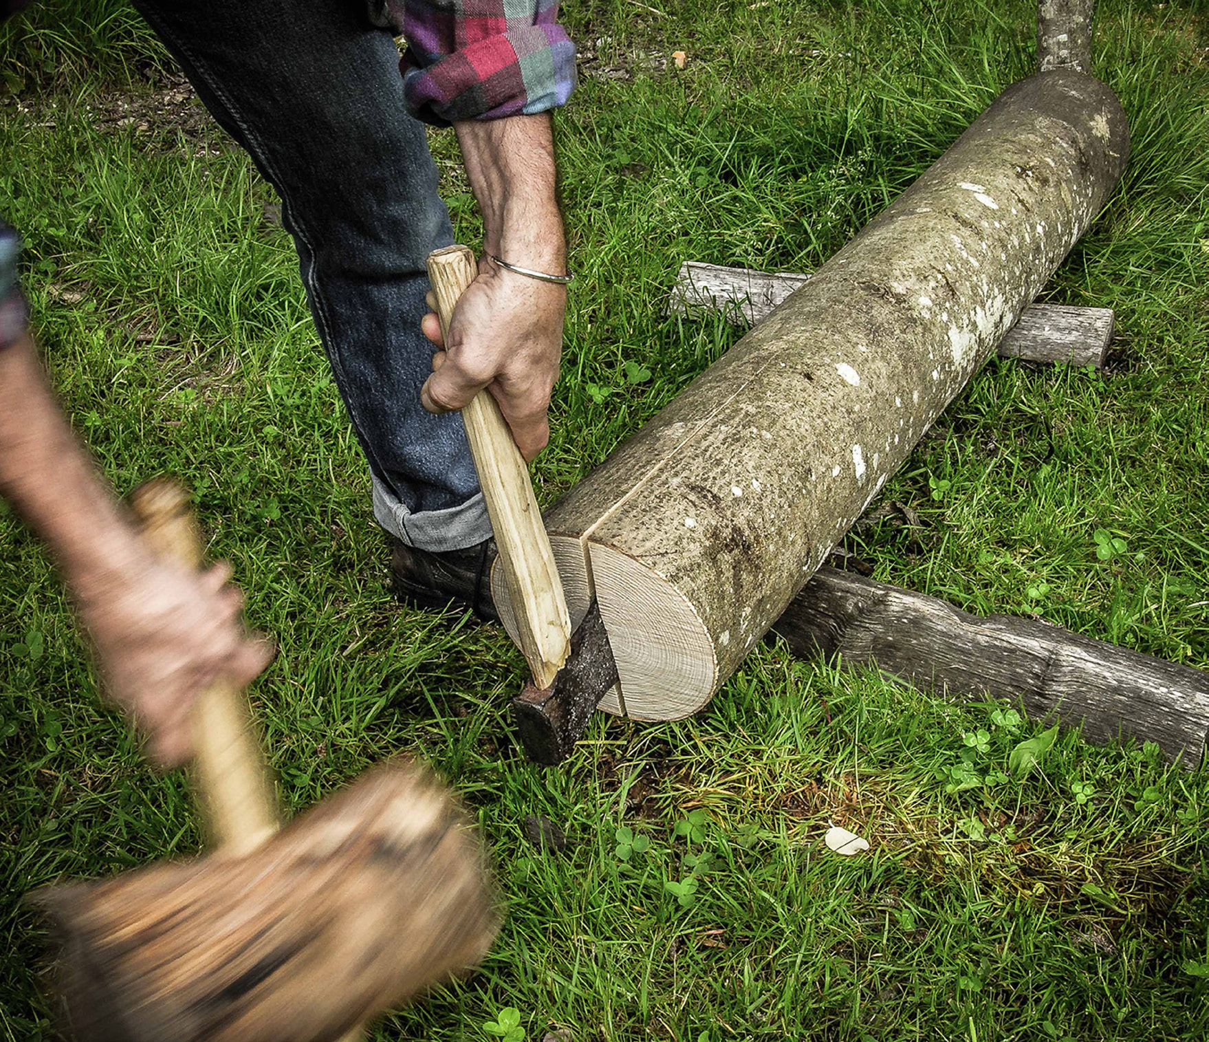
[[[1062,626],[979,616],[938,597],[820,568],[773,630],[800,656],[875,665],[920,690],[1022,705],[1103,745],[1155,742],[1193,770],[1209,735],[1209,673]]]

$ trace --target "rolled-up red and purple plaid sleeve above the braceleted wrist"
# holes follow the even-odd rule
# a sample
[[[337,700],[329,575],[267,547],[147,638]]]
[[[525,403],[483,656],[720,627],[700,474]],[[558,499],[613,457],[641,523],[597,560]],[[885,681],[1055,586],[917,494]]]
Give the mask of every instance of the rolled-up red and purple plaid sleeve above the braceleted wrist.
[[[376,21],[401,33],[403,91],[412,115],[438,126],[499,120],[563,105],[575,87],[575,45],[559,0],[377,0]]]

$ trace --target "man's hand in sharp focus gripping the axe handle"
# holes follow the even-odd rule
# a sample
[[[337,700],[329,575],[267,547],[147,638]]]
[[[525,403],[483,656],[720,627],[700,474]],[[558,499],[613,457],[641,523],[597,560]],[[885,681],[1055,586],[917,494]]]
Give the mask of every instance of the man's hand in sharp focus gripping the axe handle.
[[[428,306],[435,307],[432,294]],[[420,393],[424,409],[462,409],[486,387],[521,455],[533,459],[550,440],[546,409],[559,378],[566,307],[566,286],[481,261],[479,277],[453,311],[449,343],[435,312],[424,316],[424,336],[444,348],[433,357],[433,375]]]

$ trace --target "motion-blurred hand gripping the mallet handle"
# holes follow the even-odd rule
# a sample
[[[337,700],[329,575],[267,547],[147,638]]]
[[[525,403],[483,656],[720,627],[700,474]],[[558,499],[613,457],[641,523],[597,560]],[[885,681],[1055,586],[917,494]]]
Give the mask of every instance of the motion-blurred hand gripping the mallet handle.
[[[231,569],[190,572],[147,556],[80,604],[109,697],[146,731],[151,758],[173,766],[192,753],[193,700],[215,678],[250,683],[273,656],[239,621]]]

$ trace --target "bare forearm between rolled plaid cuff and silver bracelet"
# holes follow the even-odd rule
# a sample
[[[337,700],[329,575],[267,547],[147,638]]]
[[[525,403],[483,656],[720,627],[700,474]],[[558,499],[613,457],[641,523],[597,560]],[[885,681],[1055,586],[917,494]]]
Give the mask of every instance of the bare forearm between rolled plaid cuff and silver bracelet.
[[[566,271],[554,131],[546,112],[456,123],[488,254],[551,274]]]

